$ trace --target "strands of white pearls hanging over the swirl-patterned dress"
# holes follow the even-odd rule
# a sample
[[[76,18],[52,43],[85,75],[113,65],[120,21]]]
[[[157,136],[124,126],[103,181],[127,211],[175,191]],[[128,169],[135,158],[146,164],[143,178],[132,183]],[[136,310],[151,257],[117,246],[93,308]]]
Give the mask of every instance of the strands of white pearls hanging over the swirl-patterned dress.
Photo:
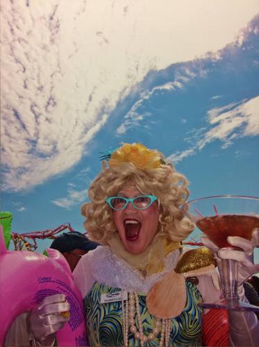
[[[137,326],[135,325],[135,319]],[[123,339],[124,346],[128,346],[128,328],[130,332],[134,334],[135,339],[140,339],[140,346],[144,347],[145,342],[156,339],[156,336],[160,332],[159,347],[166,346],[169,344],[169,337],[171,331],[170,319],[157,319],[155,327],[149,335],[144,334],[142,319],[140,314],[140,303],[136,291],[131,291],[128,294],[128,300],[122,300],[122,328],[123,328]]]

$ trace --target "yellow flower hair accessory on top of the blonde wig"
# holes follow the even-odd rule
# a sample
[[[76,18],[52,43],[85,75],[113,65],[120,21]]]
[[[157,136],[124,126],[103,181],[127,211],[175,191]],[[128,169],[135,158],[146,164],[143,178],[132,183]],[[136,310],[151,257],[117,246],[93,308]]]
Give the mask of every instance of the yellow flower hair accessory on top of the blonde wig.
[[[148,149],[143,144],[124,144],[110,155],[110,167],[119,167],[124,162],[132,162],[142,170],[156,169],[165,164],[160,152]]]

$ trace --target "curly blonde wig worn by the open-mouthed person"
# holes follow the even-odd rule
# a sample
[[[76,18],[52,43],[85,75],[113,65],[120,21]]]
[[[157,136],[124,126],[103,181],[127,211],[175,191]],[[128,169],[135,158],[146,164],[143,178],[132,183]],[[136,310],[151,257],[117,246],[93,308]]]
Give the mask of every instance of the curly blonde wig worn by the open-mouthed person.
[[[160,235],[181,242],[192,232],[194,224],[183,217],[180,209],[189,196],[188,182],[171,163],[162,160],[159,167],[145,169],[132,162],[108,167],[103,161],[101,173],[88,190],[90,202],[81,208],[81,213],[86,217],[84,226],[91,239],[107,244],[112,234],[117,232],[106,198],[116,196],[126,185],[134,185],[142,194],[158,197]]]

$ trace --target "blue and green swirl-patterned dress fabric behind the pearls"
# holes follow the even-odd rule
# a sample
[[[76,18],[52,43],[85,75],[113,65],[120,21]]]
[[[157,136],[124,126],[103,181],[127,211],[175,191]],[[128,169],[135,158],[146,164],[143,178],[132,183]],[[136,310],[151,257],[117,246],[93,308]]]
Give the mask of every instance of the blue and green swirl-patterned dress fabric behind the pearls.
[[[187,302],[185,310],[171,319],[171,334],[169,346],[201,346],[201,294],[191,282],[186,283]],[[101,303],[101,294],[112,294],[120,291],[118,288],[99,285],[95,282],[85,296],[85,312],[87,335],[90,346],[123,346],[122,333],[122,301]],[[176,298],[177,300],[177,298]],[[140,313],[145,335],[152,332],[156,317],[149,314],[146,296],[139,295]],[[128,332],[129,346],[140,346],[140,340]],[[160,334],[156,339],[147,341],[145,346],[158,346]]]

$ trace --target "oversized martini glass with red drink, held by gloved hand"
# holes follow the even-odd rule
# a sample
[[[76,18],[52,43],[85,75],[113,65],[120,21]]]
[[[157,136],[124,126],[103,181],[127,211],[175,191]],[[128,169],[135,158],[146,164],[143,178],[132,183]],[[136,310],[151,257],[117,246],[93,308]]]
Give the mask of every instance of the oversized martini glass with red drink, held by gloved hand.
[[[259,228],[259,197],[256,196],[207,196],[185,203],[182,210],[219,248],[241,251],[228,244],[227,237],[251,239],[253,229]],[[201,306],[259,312],[258,306],[240,301],[237,295],[237,275],[238,262],[223,259],[219,269],[223,298],[215,303],[202,303]]]

